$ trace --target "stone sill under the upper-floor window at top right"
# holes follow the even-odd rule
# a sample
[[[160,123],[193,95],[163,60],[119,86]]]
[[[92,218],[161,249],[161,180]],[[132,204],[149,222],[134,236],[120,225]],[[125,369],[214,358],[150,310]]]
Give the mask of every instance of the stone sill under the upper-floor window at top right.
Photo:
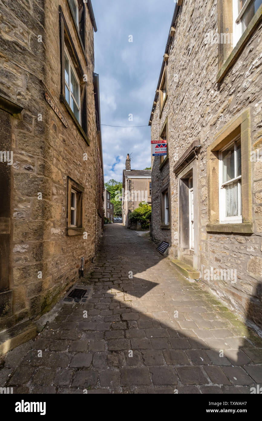
[[[259,7],[257,13],[254,15],[249,26],[246,28],[245,32],[241,36],[236,47],[233,48],[233,51],[230,53],[230,55],[228,56],[224,64],[222,64],[222,67],[220,68],[217,74],[217,83],[221,82],[221,80],[226,75],[230,67],[232,67],[233,64],[236,62],[236,60],[238,59],[238,56],[241,54],[247,41],[249,40],[249,38],[251,37],[251,35],[254,33],[255,29],[259,25],[259,22],[261,19],[262,19],[262,5]]]

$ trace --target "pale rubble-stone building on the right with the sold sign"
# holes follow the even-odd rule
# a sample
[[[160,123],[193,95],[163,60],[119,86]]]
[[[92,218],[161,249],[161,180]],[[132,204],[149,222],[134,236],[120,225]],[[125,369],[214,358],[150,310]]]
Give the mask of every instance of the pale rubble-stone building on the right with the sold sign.
[[[178,0],[149,125],[152,230],[262,326],[262,1]]]

